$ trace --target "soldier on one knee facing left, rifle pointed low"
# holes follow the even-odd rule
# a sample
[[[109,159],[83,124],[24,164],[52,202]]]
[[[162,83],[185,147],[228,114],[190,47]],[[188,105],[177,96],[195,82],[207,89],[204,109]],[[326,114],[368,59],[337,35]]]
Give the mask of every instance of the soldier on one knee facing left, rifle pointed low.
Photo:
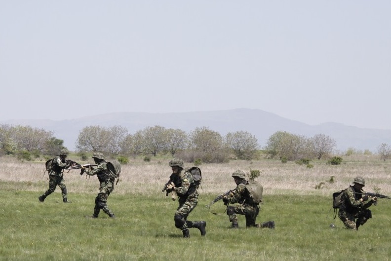
[[[274,221],[268,221],[260,224],[255,224],[258,217],[260,206],[259,203],[252,202],[251,195],[248,192],[246,185],[248,181],[243,171],[236,170],[232,177],[236,183],[236,189],[234,193],[223,197],[223,201],[227,207],[227,215],[232,223],[232,228],[238,228],[236,214],[244,215],[246,218],[246,227],[269,227],[274,228]],[[260,186],[260,185],[259,185]],[[229,206],[229,204],[235,204]],[[262,204],[262,201],[261,201]]]

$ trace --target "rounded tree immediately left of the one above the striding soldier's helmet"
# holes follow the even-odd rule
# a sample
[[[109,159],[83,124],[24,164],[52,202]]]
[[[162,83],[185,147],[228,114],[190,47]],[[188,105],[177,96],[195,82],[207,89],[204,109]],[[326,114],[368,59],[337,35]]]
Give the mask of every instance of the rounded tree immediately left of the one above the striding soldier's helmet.
[[[166,128],[155,125],[147,127],[142,131],[144,137],[144,148],[146,153],[156,154],[167,148]]]

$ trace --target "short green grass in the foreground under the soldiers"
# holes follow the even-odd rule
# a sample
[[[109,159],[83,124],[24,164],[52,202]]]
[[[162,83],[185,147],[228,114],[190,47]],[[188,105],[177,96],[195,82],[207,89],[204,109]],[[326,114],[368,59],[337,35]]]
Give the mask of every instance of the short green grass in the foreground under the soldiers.
[[[10,189],[0,182],[0,260],[29,261],[388,261],[391,257],[391,200],[371,207],[373,219],[358,231],[333,220],[331,197],[265,195],[257,222],[275,221],[275,229],[230,229],[226,214],[216,216],[204,206],[216,195],[200,195],[189,220],[205,220],[207,234],[196,228],[182,238],[173,213],[178,202],[156,191],[148,197],[118,195],[108,204],[117,219],[101,212],[89,219],[96,194],[70,193],[71,204],[61,200],[60,189],[40,203],[40,192]],[[26,184],[23,184],[26,185]],[[129,189],[130,190],[130,189]],[[42,191],[43,192],[43,191]],[[223,192],[223,191],[222,191]],[[213,211],[223,212],[217,202]],[[337,228],[330,228],[331,223]]]

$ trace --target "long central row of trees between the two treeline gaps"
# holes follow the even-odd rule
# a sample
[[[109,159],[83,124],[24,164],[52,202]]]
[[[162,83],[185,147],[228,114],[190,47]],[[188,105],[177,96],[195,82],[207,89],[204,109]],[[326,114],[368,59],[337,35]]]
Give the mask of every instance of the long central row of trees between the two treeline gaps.
[[[80,131],[76,148],[78,151],[102,151],[133,157],[170,153],[187,161],[224,162],[231,154],[239,159],[254,158],[259,144],[247,131],[228,133],[223,137],[207,127],[196,127],[186,133],[156,125],[128,134],[121,126],[88,126]]]

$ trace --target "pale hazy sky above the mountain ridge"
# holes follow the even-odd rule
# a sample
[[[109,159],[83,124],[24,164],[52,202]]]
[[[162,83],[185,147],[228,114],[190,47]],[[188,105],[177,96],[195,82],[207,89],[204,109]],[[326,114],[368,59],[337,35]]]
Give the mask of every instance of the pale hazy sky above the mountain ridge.
[[[260,109],[391,129],[391,0],[0,0],[0,120]]]

